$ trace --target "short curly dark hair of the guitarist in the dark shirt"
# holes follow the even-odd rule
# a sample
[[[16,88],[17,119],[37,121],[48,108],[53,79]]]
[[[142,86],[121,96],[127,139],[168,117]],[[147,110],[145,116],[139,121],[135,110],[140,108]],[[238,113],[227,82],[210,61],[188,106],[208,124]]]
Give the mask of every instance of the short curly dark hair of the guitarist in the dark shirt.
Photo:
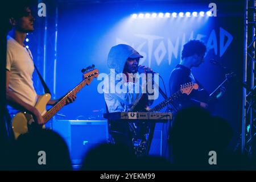
[[[193,55],[203,55],[205,54],[207,47],[200,40],[190,40],[185,43],[183,46],[183,50],[181,52],[181,59],[183,60],[185,57],[193,56]]]

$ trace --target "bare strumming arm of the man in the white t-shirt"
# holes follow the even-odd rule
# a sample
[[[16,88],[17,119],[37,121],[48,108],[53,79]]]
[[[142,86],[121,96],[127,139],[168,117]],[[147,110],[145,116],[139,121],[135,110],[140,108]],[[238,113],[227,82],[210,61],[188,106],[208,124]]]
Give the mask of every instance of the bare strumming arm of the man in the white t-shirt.
[[[6,70],[6,100],[7,102],[14,104],[17,108],[23,109],[31,113],[35,116],[36,121],[39,124],[42,124],[44,122],[42,115],[40,112],[34,107],[26,102],[23,102],[20,100],[19,97],[17,97],[11,90],[9,90],[9,80],[10,80],[10,72]]]

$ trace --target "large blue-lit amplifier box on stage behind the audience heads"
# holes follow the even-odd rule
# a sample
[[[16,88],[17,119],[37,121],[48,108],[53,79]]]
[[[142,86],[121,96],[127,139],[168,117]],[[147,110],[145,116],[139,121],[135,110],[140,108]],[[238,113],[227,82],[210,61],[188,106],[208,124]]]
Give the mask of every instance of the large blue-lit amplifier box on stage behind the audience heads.
[[[52,129],[67,143],[73,165],[81,164],[90,148],[108,140],[108,121],[53,120]]]

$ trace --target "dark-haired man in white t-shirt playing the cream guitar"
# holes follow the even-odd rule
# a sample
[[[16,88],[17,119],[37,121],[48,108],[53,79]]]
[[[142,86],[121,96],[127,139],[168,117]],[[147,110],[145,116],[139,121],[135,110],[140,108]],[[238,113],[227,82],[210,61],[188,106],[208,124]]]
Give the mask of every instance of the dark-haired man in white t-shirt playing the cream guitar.
[[[10,5],[10,31],[7,35],[6,57],[6,99],[11,117],[19,111],[27,111],[34,116],[38,124],[42,124],[43,117],[34,107],[38,98],[32,81],[34,62],[30,50],[23,44],[27,33],[34,31],[34,22],[35,18],[31,14],[29,1],[15,1],[15,6]],[[66,104],[75,99],[75,95],[70,96]],[[50,100],[48,105],[55,105],[57,101]]]

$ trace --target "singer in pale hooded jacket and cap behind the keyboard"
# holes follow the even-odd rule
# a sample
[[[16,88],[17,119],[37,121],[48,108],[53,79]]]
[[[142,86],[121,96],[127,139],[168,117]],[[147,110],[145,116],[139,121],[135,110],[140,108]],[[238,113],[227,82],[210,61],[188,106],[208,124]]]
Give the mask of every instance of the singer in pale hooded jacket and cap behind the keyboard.
[[[129,76],[134,73],[145,73],[152,72],[150,68],[139,65],[139,59],[143,56],[140,55],[133,47],[130,47],[126,44],[118,44],[110,49],[107,64],[111,72],[115,72],[115,75],[123,73],[123,76],[126,77],[127,88],[134,88],[132,90],[142,90],[136,87],[141,87],[140,84],[135,84],[134,79],[129,79]],[[131,74],[133,73],[133,74]],[[110,81],[112,81],[110,79]],[[118,84],[118,80],[113,80],[111,85]],[[111,91],[111,90],[110,90]],[[127,93],[113,93],[113,92],[104,93],[105,102],[106,102],[106,111],[107,113],[114,113],[120,111],[135,111],[135,105],[137,110],[143,110],[152,104],[153,100],[148,100],[148,94],[143,94],[142,92],[127,92]],[[143,127],[143,129],[142,129]],[[108,130],[110,135],[110,140],[114,141],[115,144],[122,144],[126,146],[131,153],[135,153],[133,138],[134,133],[137,133],[138,130],[146,131],[147,126],[135,125],[135,123],[127,123],[122,121],[108,121]],[[140,137],[137,135],[137,137]]]

